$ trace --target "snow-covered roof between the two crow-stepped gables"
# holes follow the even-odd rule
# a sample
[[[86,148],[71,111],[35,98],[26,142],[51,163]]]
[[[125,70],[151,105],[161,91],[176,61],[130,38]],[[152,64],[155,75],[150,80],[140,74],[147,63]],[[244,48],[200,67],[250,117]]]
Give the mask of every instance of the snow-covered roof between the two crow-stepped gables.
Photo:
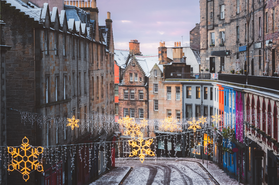
[[[139,63],[140,67],[142,67],[142,70],[144,71],[146,77],[150,76],[150,71],[152,70],[154,65],[159,64],[158,55],[157,56],[135,56],[135,58],[137,59],[137,62]],[[132,58],[129,59],[128,64],[130,63],[131,60]]]

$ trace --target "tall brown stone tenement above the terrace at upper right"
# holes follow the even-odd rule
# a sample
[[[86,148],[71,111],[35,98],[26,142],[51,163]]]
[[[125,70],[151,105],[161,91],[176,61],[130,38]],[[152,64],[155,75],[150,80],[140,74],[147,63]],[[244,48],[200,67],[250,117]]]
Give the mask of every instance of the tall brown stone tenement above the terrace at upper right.
[[[258,76],[266,71],[265,75],[272,76],[272,69],[278,66],[278,54],[272,53],[277,47],[278,12],[272,2],[200,1],[201,69]],[[267,62],[269,68],[265,67]]]

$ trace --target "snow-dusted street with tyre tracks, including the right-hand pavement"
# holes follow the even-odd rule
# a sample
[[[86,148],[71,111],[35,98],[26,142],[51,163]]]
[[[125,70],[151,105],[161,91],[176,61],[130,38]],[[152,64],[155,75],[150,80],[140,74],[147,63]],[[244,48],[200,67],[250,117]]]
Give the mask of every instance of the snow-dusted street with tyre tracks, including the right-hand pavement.
[[[183,159],[188,161],[184,161]],[[155,161],[152,158],[147,158],[143,163],[141,163],[140,160],[117,160],[116,166],[131,167],[130,174],[123,182],[123,184],[129,185],[238,184],[235,179],[226,175],[216,164],[208,163],[208,168],[206,168],[205,161],[203,165],[205,169],[201,163],[202,161],[199,159],[190,158],[176,158],[176,161],[167,160],[167,158],[159,158]]]

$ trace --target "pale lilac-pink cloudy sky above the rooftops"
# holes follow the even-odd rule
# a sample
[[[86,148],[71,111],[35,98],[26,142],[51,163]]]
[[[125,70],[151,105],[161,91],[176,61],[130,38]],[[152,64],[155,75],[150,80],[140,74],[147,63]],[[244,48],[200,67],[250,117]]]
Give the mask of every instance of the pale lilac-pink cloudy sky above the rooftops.
[[[189,31],[200,22],[198,0],[97,0],[99,25],[111,13],[115,49],[129,49],[137,39],[143,55],[158,55],[159,42],[189,42]]]

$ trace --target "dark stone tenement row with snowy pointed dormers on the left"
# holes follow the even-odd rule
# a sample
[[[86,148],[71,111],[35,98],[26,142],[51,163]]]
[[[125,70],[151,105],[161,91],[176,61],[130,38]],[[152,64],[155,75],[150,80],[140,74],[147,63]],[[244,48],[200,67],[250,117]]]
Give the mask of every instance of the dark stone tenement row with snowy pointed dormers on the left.
[[[114,137],[111,125],[99,121],[103,129],[97,130],[87,122],[115,111],[112,20],[108,12],[99,26],[92,2],[93,8],[82,10],[63,1],[51,9],[43,1],[1,1],[1,45],[10,46],[1,46],[1,142],[19,146],[26,136],[30,145],[45,146],[41,172],[25,182],[20,172],[7,175],[1,167],[1,184],[85,184],[112,167],[110,145],[85,144]],[[22,121],[23,114],[29,121]],[[79,127],[67,127],[72,116]]]

